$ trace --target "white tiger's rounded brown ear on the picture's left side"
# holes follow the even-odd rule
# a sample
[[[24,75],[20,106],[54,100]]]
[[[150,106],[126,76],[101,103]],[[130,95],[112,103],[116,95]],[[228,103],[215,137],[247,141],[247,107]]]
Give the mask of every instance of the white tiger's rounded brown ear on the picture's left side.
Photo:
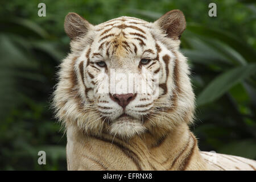
[[[68,13],[65,17],[64,30],[71,39],[85,35],[92,27],[92,24],[76,13]]]

